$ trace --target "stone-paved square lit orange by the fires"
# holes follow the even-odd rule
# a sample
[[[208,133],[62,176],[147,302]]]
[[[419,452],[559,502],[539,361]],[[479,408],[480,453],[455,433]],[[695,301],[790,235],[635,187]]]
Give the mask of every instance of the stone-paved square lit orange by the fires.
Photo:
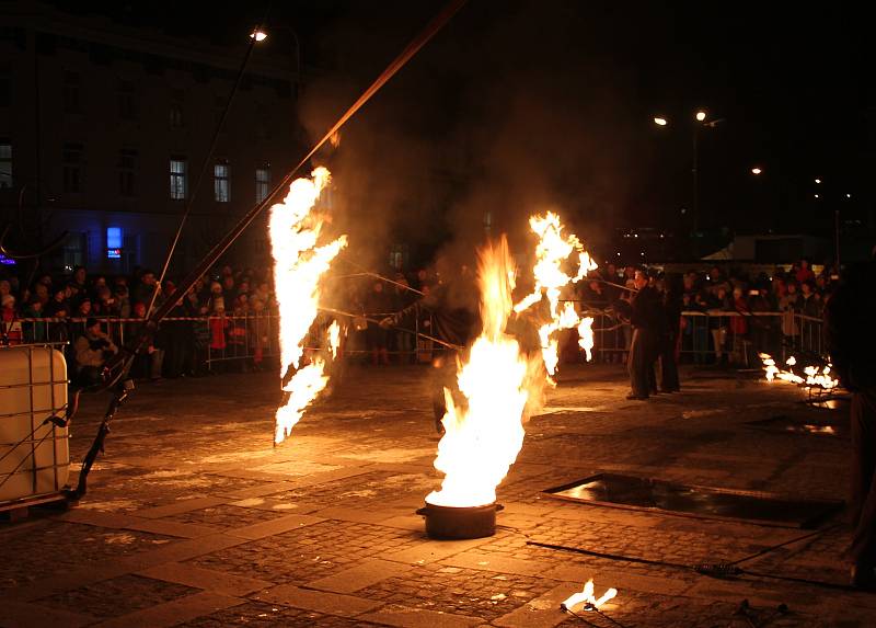
[[[848,407],[753,374],[683,375],[680,395],[631,402],[621,367],[566,365],[498,489],[496,534],[468,541],[426,538],[414,512],[440,480],[428,367],[349,369],[277,447],[275,375],[143,385],[78,505],[0,524],[0,626],[876,626],[876,595],[770,578],[843,584],[841,515],[742,563],[758,575],[723,580],[691,566],[806,530],[544,492],[610,471],[844,496]],[[83,401],[74,461],[105,403]],[[590,578],[619,590],[604,615],[563,613]]]

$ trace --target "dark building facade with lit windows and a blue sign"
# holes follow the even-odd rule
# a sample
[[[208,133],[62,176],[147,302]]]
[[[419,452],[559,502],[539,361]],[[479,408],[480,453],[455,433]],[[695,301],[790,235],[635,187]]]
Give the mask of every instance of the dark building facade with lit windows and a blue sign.
[[[296,59],[256,44],[207,160],[245,33],[223,49],[32,2],[0,24],[0,221],[18,249],[67,231],[46,266],[160,269],[203,169],[171,266],[191,269],[303,152]],[[263,219],[232,259],[267,255]]]

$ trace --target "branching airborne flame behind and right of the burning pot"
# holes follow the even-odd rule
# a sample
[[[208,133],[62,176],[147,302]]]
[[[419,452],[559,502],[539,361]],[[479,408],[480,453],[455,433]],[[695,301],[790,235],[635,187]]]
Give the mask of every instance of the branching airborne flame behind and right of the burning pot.
[[[587,317],[581,320],[578,312],[575,311],[574,304],[569,301],[563,304],[561,308],[560,297],[564,287],[579,282],[589,271],[596,270],[597,264],[590,259],[590,254],[584,250],[584,246],[577,236],[563,233],[560,216],[553,212],[548,212],[544,216],[532,216],[529,219],[529,226],[539,237],[539,243],[535,248],[535,265],[532,267],[535,285],[531,294],[515,305],[514,311],[522,312],[534,304],[540,302],[542,296],[548,298],[551,318],[539,328],[539,339],[541,341],[544,367],[548,370],[548,379],[552,382],[551,377],[556,373],[556,365],[560,362],[557,333],[561,330],[577,327],[580,336],[579,344],[587,352],[588,362],[591,358],[590,349],[593,346],[591,326],[593,319]],[[574,276],[567,274],[563,269],[564,264],[573,255],[578,266]]]

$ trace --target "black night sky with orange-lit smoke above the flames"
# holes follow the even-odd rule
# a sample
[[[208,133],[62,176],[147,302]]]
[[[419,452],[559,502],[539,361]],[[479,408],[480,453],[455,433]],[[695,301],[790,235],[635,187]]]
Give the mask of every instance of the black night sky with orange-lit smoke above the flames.
[[[304,61],[328,70],[304,87],[308,130],[324,130],[441,4],[275,2],[270,50],[291,50],[283,27],[293,27]],[[374,198],[389,228],[404,231],[422,218],[411,194],[420,178],[456,169],[462,178],[433,183],[451,224],[491,205],[528,214],[550,204],[603,236],[623,227],[682,233],[693,116],[703,109],[724,122],[699,136],[701,228],[829,233],[835,208],[872,219],[867,20],[851,3],[777,4],[471,0],[345,130],[350,195],[388,176],[410,180]],[[220,45],[239,45],[264,10],[78,5]],[[655,115],[670,124],[657,127]]]

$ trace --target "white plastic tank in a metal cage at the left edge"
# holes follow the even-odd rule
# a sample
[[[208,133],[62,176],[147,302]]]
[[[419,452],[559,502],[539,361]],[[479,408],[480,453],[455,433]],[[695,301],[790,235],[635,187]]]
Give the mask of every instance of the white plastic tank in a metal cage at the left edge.
[[[66,407],[64,354],[50,346],[0,347],[0,505],[67,486],[67,429],[42,424],[64,416]]]

